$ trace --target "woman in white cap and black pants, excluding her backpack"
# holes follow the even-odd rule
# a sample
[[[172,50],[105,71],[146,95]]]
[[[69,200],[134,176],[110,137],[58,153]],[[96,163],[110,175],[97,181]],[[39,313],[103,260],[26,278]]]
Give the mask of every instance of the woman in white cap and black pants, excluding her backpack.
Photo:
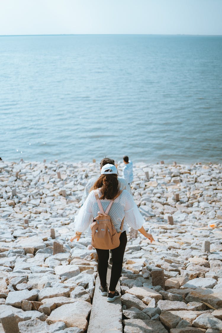
[[[117,179],[116,167],[112,164],[106,164],[101,168],[100,178],[96,181],[96,183],[91,189],[88,198],[84,202],[83,206],[80,208],[79,214],[75,220],[77,230],[76,235],[70,239],[71,242],[74,239],[77,239],[78,241],[81,237],[82,232],[84,232],[90,225],[92,218],[100,213],[98,212],[99,206],[95,197],[96,193],[98,193],[100,197],[104,211],[107,209],[110,201],[113,200],[109,215],[117,232],[119,232],[121,222],[124,218],[122,232],[119,237],[120,244],[118,247],[111,250],[112,269],[107,301],[113,302],[116,298],[119,297],[119,293],[117,290],[115,290],[115,287],[122,271],[123,255],[127,242],[126,222],[129,226],[141,232],[141,234],[143,234],[151,242],[154,239],[152,235],[150,233],[147,233],[143,228],[142,224],[145,222],[145,220],[140,214],[138,207],[133,201],[132,196],[126,190],[119,192],[119,182]],[[98,254],[98,273],[101,283],[99,289],[103,296],[107,296],[107,266],[109,259],[109,250],[101,250],[96,248],[96,251]]]

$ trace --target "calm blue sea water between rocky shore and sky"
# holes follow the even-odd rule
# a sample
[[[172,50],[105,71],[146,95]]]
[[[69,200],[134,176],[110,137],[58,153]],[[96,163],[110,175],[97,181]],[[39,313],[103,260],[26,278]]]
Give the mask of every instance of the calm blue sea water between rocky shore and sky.
[[[0,37],[0,156],[221,162],[222,36]]]

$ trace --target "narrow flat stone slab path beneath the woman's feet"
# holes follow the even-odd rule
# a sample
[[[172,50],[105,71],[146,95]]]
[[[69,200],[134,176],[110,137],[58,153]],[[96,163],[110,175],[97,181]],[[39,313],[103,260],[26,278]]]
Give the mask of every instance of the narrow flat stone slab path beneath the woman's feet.
[[[111,266],[109,265],[107,281],[110,281],[110,275]],[[121,299],[117,298],[113,303],[107,302],[107,297],[100,294],[99,286],[100,278],[98,275],[87,333],[122,332]],[[120,282],[118,282],[116,290],[120,293]]]

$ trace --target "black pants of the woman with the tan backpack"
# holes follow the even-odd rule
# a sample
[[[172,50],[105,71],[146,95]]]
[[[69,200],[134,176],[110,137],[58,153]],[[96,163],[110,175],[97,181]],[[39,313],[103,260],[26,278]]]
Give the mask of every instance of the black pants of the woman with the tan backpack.
[[[112,251],[112,269],[110,278],[110,291],[115,291],[118,279],[122,271],[123,255],[126,247],[127,237],[126,232],[123,231],[119,237],[120,244]],[[107,285],[107,266],[109,260],[109,250],[96,249],[98,254],[98,273],[102,287]]]

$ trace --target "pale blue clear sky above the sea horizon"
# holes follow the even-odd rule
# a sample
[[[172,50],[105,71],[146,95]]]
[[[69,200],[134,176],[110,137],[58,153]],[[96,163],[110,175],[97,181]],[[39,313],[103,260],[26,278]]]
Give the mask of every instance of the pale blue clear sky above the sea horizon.
[[[222,0],[0,0],[0,35],[222,35]]]

